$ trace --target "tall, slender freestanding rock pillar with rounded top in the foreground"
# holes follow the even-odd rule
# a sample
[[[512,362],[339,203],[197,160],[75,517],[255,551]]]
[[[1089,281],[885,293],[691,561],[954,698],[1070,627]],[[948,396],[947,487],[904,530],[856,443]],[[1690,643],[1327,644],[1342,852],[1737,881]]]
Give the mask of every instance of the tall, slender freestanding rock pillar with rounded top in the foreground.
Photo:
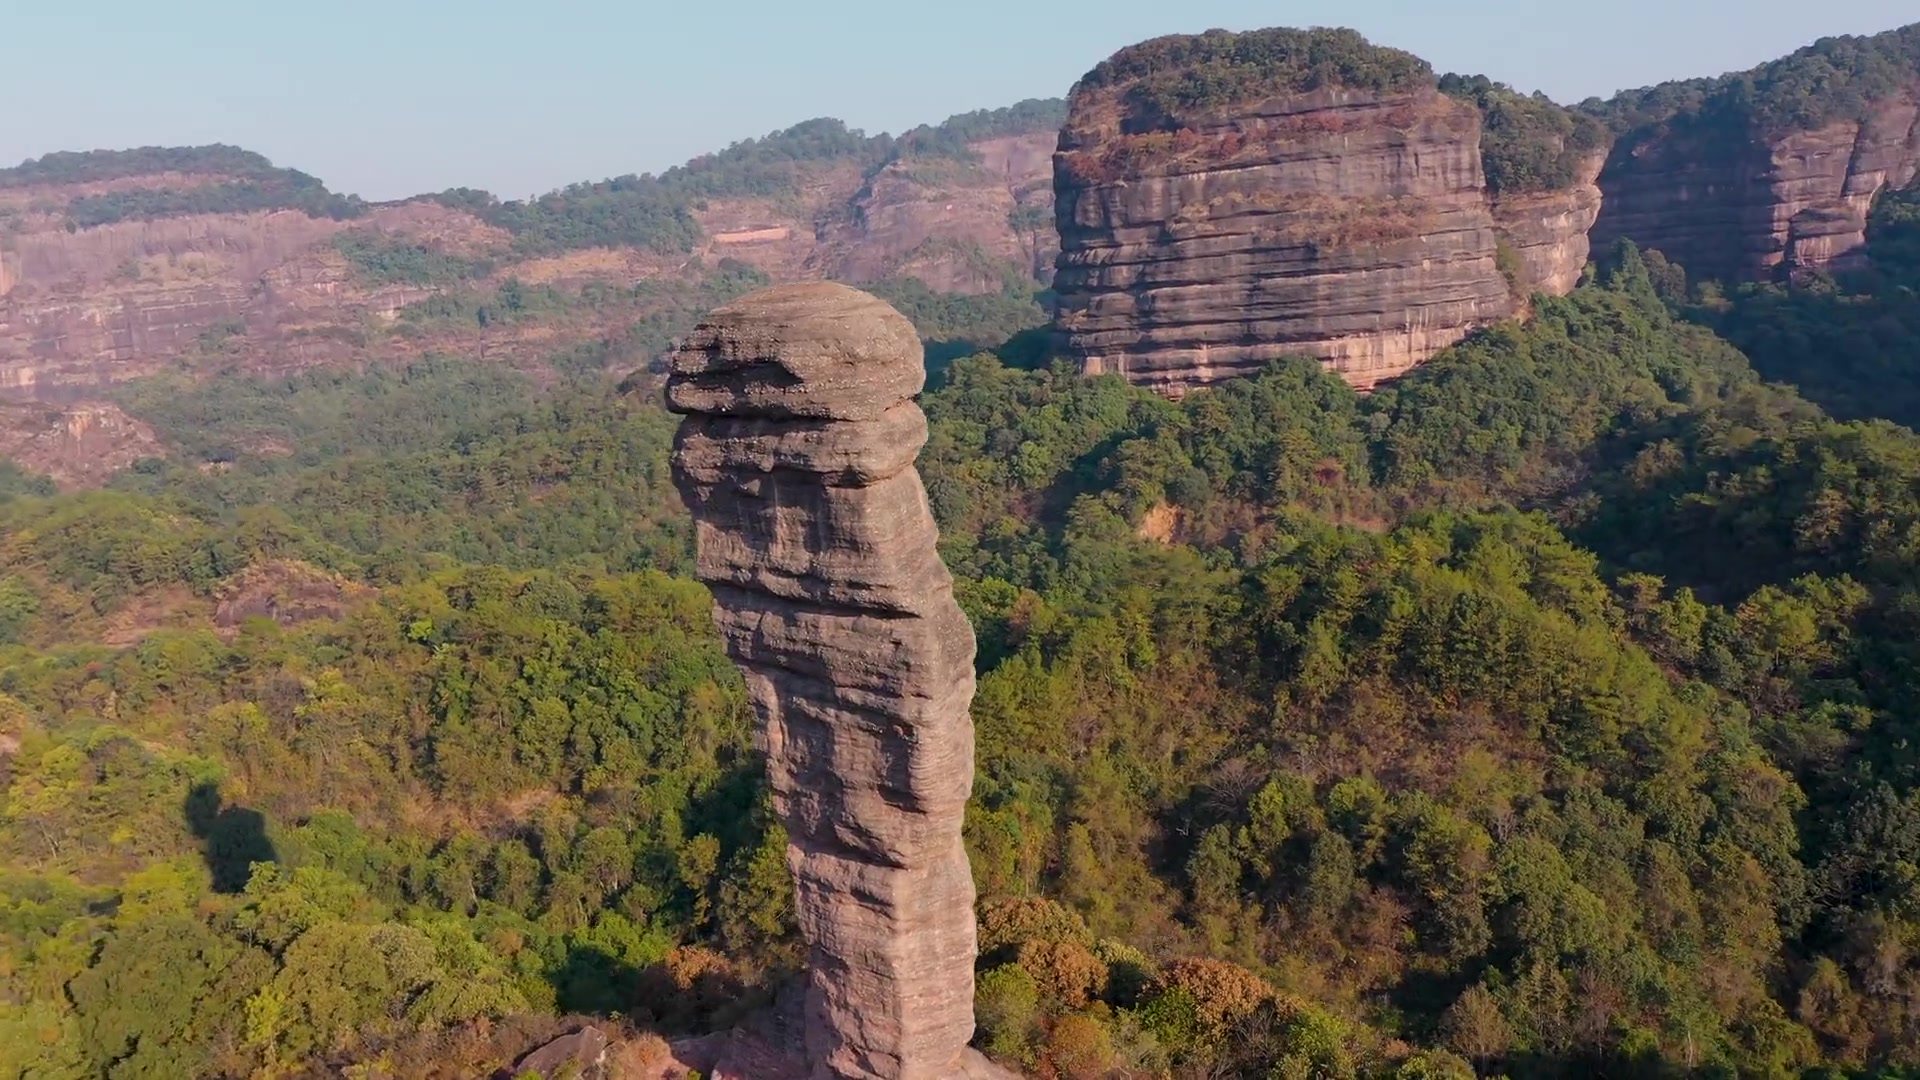
[[[697,575],[747,676],[810,947],[818,1078],[981,1074],[973,630],[914,455],[914,327],[829,282],[755,292],[674,356],[674,482]]]

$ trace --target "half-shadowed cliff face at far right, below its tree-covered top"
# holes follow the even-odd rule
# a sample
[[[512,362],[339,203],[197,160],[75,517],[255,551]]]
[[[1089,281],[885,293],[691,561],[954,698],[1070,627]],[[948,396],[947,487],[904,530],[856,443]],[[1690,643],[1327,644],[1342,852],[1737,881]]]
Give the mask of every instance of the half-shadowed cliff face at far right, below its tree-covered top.
[[[1684,117],[1615,146],[1596,244],[1659,248],[1695,277],[1768,281],[1864,259],[1866,211],[1920,175],[1920,79],[1864,119],[1766,135]]]

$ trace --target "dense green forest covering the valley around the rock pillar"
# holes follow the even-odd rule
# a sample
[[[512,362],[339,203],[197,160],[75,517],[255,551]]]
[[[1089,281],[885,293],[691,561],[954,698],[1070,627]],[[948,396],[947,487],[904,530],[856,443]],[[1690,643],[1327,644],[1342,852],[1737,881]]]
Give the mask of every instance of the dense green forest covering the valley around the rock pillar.
[[[1365,398],[1298,361],[1167,402],[1031,334],[947,367],[989,1053],[1920,1061],[1920,436],[1764,382],[1674,284],[1626,248]],[[657,394],[154,380],[171,459],[0,482],[0,1074],[465,1076],[791,976]],[[340,611],[213,619],[261,575]]]

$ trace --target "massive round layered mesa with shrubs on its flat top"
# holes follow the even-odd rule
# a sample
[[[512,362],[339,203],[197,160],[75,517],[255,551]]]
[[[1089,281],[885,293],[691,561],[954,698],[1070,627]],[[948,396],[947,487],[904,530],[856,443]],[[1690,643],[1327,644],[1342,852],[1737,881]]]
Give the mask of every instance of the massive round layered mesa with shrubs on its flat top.
[[[1515,309],[1480,113],[1354,31],[1158,38],[1073,88],[1060,348],[1179,392],[1315,356],[1356,386]]]

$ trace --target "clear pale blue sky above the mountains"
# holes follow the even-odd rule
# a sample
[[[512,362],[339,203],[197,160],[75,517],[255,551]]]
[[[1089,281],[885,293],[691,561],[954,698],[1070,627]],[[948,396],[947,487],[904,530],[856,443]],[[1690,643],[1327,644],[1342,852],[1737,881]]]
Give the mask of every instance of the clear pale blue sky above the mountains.
[[[657,171],[816,115],[1064,94],[1116,48],[1350,25],[1571,102],[1751,67],[1914,0],[0,0],[0,163],[234,142],[367,198]]]

